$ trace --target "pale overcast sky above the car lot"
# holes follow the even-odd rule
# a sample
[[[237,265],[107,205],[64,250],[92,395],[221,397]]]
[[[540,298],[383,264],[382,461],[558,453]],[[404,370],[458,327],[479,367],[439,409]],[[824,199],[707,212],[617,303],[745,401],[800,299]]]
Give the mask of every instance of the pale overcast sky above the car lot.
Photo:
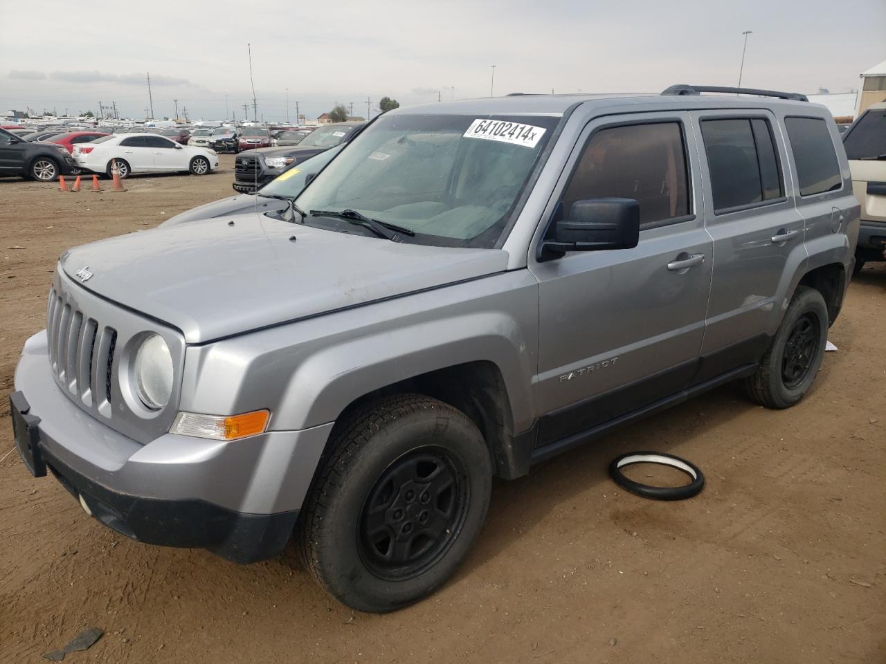
[[[672,83],[845,92],[886,59],[886,0],[375,0],[89,4],[0,0],[0,107],[192,120],[315,118],[367,97],[401,105],[490,92],[659,91]],[[41,20],[41,16],[50,17]],[[455,87],[455,91],[451,89]]]

